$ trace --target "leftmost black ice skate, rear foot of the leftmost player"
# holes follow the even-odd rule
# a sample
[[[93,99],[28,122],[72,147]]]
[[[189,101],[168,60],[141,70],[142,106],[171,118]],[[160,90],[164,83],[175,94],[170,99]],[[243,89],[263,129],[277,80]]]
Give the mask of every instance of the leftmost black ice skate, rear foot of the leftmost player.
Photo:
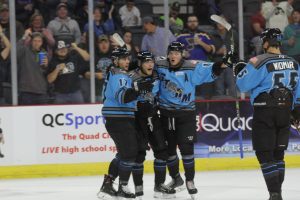
[[[115,199],[117,191],[113,187],[113,178],[108,175],[104,175],[103,184],[97,196],[99,199],[103,200]]]

